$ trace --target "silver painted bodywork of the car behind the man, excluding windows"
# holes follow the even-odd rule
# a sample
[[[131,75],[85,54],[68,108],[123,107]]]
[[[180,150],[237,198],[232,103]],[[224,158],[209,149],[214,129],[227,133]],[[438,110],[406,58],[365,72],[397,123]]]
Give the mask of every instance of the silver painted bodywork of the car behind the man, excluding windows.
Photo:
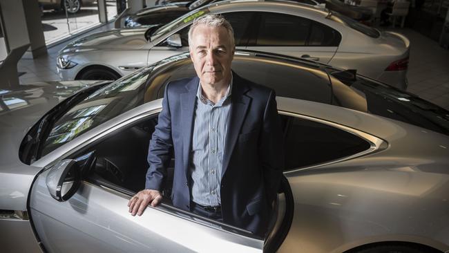
[[[353,30],[342,22],[326,19],[327,11],[294,3],[242,1],[233,3],[213,3],[209,6],[211,13],[236,11],[269,11],[306,17],[321,24],[334,28],[342,35],[338,47],[267,47],[249,46],[247,49],[301,57],[310,55],[318,57],[320,62],[339,68],[356,69],[361,75],[379,79],[398,88],[406,87],[406,71],[385,71],[392,62],[408,57],[410,41],[395,32],[381,32],[381,37],[372,38]],[[192,12],[193,13],[193,12]],[[167,32],[159,38],[146,42],[144,29],[117,29],[100,32],[79,39],[59,52],[60,57],[66,57],[76,62],[77,66],[69,69],[58,68],[62,79],[75,79],[79,71],[93,65],[106,66],[120,75],[127,75],[126,67],[146,66],[166,57],[184,53],[188,47],[173,48],[158,46],[169,36],[188,26],[180,26],[177,30]]]

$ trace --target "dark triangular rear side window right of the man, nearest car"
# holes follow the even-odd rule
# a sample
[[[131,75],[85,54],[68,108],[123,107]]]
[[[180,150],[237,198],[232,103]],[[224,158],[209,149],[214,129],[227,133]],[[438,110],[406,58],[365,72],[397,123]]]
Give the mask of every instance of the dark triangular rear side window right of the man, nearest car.
[[[366,140],[327,124],[281,116],[285,129],[285,170],[352,156],[371,147]]]

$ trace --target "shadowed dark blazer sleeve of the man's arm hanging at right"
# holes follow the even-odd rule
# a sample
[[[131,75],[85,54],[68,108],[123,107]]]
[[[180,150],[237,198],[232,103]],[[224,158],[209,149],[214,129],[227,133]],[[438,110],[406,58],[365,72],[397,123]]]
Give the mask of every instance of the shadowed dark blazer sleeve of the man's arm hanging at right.
[[[269,93],[260,135],[260,158],[269,203],[278,192],[284,169],[284,141],[280,117],[276,104],[276,94]]]

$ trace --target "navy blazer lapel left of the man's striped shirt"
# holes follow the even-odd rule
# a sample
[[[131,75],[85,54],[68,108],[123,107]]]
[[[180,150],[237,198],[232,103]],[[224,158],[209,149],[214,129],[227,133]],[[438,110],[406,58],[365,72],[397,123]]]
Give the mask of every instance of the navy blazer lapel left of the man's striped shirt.
[[[182,109],[181,119],[184,124],[182,128],[183,164],[186,176],[189,171],[190,147],[193,135],[193,112],[195,111],[196,92],[198,91],[200,79],[194,77],[186,84],[187,93],[180,94],[180,104]]]

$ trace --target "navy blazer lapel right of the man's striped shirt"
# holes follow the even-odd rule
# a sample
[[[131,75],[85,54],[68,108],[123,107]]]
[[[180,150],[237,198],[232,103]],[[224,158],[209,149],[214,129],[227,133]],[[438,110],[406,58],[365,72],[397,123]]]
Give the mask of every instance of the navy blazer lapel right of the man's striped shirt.
[[[236,141],[242,124],[245,121],[251,97],[245,95],[249,87],[245,81],[241,79],[236,73],[233,74],[233,86],[231,93],[231,112],[229,113],[229,122],[227,126],[225,151],[223,153],[222,162],[222,176],[225,175],[229,160],[231,159],[232,151],[236,146]]]

